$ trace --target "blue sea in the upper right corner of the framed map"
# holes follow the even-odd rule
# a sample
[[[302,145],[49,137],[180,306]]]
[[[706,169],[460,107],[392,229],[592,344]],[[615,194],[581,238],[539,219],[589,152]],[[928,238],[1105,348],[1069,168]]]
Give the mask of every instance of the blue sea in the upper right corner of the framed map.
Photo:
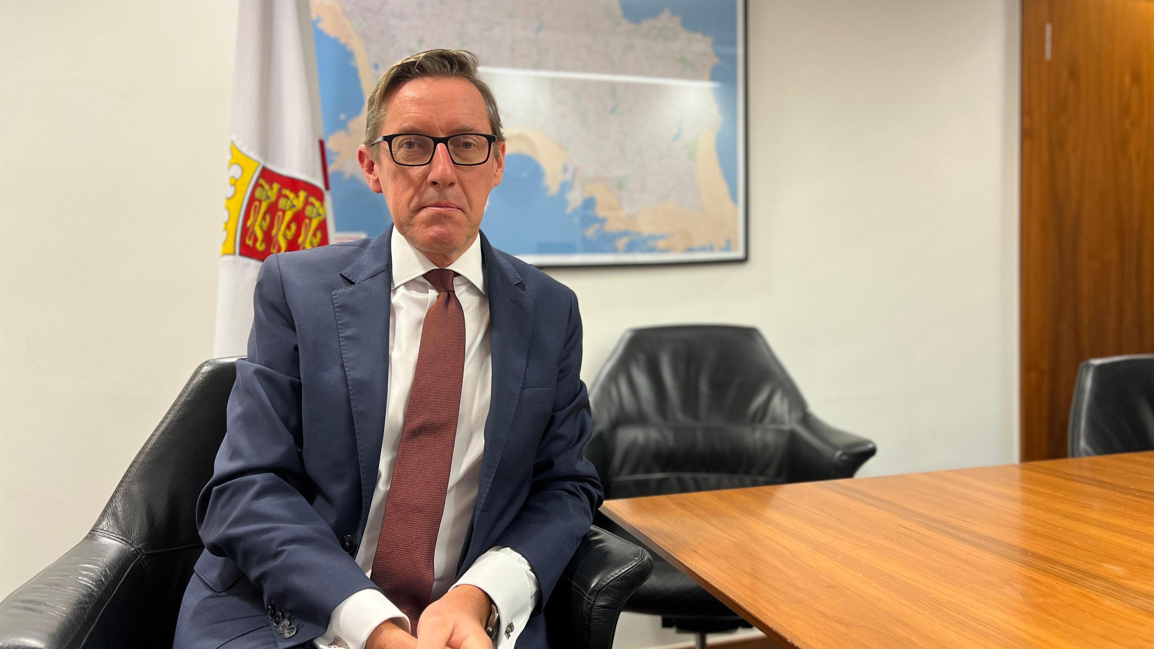
[[[681,27],[713,39],[713,54],[720,61],[710,70],[721,129],[717,151],[721,173],[729,186],[729,197],[737,202],[737,2],[736,0],[620,0],[627,21],[639,23],[669,13],[681,18]]]

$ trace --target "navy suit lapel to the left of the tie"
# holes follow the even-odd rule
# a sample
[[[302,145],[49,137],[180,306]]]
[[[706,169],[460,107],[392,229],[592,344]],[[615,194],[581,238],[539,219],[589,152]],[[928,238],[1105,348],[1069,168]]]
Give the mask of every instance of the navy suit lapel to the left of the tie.
[[[337,336],[360,463],[361,515],[368,519],[381,464],[384,410],[389,394],[389,308],[392,284],[392,227],[373,240],[340,271],[351,285],[332,291]],[[358,531],[358,536],[364,530]]]

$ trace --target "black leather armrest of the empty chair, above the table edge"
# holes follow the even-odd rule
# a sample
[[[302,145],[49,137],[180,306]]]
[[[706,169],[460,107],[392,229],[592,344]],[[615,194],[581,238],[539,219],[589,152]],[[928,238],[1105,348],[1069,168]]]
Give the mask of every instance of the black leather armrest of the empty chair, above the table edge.
[[[834,428],[807,412],[794,425],[796,441],[790,453],[790,482],[852,478],[877,447],[865,438]]]

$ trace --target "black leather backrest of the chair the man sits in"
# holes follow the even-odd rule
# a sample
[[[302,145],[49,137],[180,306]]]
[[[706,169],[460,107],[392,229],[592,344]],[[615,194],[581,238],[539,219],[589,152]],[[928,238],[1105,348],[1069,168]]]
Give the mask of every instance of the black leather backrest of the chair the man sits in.
[[[196,368],[92,528],[144,559],[123,580],[138,585],[117,589],[102,620],[132,620],[128,637],[152,647],[172,642],[185,587],[204,547],[196,531],[196,498],[212,477],[224,440],[235,360],[207,360]]]

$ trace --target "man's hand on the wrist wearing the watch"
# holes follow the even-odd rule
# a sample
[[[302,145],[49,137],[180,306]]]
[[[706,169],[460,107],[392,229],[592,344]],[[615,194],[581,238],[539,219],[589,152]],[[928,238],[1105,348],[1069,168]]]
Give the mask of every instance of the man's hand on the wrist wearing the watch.
[[[489,596],[475,585],[449,589],[421,613],[417,649],[493,649],[485,633],[492,605]]]

